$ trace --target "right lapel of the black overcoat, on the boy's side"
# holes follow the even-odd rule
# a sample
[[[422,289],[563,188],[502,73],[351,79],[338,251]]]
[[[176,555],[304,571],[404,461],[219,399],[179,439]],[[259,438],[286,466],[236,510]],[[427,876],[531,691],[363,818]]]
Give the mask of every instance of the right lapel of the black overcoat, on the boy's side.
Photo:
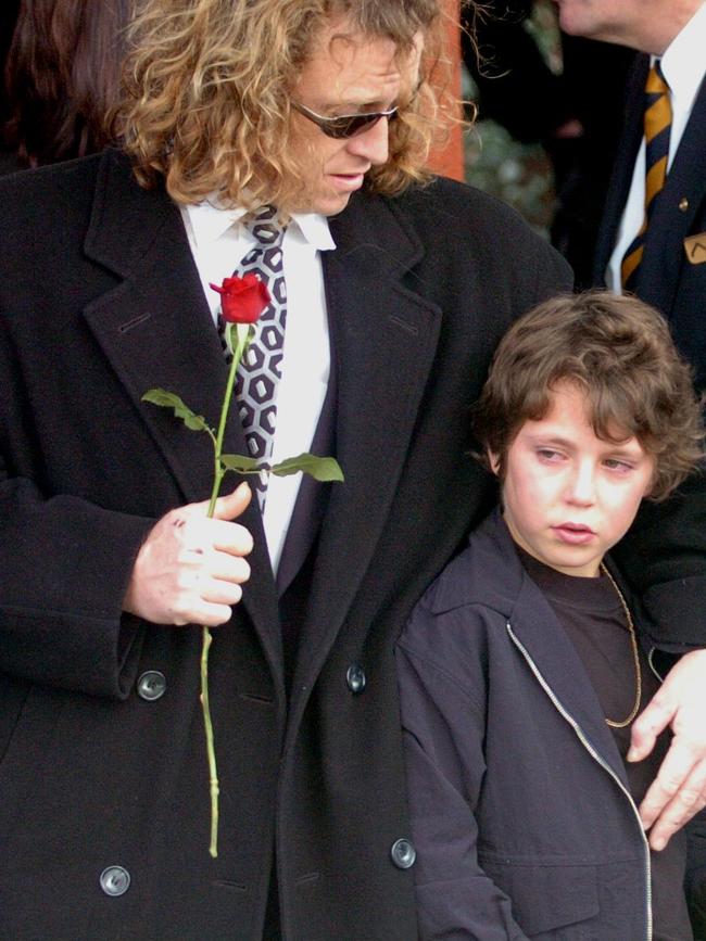
[[[375,554],[437,348],[441,311],[417,293],[424,250],[381,200],[331,220],[324,259],[338,393],[337,458],[294,679],[311,687]]]

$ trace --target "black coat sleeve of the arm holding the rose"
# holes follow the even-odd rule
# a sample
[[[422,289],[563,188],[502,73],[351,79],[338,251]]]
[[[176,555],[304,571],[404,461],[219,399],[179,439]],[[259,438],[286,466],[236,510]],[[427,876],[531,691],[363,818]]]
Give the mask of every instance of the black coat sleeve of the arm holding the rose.
[[[154,520],[76,495],[48,495],[20,467],[10,442],[30,441],[31,433],[3,325],[0,403],[0,673],[124,698],[142,632],[122,602]]]

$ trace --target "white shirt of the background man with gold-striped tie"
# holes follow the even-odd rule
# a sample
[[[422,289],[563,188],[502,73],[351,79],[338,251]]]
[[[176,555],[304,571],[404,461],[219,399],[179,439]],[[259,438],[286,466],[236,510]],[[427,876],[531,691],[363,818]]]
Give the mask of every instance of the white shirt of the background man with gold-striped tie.
[[[692,16],[684,28],[675,37],[661,56],[661,73],[669,86],[671,100],[671,131],[669,136],[669,156],[667,168],[677,153],[684,128],[689,122],[696,93],[706,75],[706,3]],[[655,56],[651,64],[654,64]],[[638,234],[645,213],[645,141],[632,171],[630,192],[622,214],[618,238],[608,269],[606,284],[620,294],[620,266],[628,245]]]

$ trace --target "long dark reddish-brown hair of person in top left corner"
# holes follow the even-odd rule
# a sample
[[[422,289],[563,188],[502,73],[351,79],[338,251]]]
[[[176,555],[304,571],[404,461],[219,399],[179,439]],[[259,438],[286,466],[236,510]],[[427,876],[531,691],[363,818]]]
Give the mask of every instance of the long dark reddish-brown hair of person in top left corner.
[[[3,75],[0,173],[85,156],[111,142],[133,0],[21,0]]]

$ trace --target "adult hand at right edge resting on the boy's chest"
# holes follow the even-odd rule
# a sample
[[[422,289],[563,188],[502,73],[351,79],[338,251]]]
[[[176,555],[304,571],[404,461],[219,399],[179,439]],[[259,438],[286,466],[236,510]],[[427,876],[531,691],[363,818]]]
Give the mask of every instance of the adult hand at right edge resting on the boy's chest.
[[[642,761],[659,733],[673,738],[657,777],[640,804],[650,845],[661,850],[670,837],[706,806],[706,649],[685,653],[632,726],[629,761]]]

